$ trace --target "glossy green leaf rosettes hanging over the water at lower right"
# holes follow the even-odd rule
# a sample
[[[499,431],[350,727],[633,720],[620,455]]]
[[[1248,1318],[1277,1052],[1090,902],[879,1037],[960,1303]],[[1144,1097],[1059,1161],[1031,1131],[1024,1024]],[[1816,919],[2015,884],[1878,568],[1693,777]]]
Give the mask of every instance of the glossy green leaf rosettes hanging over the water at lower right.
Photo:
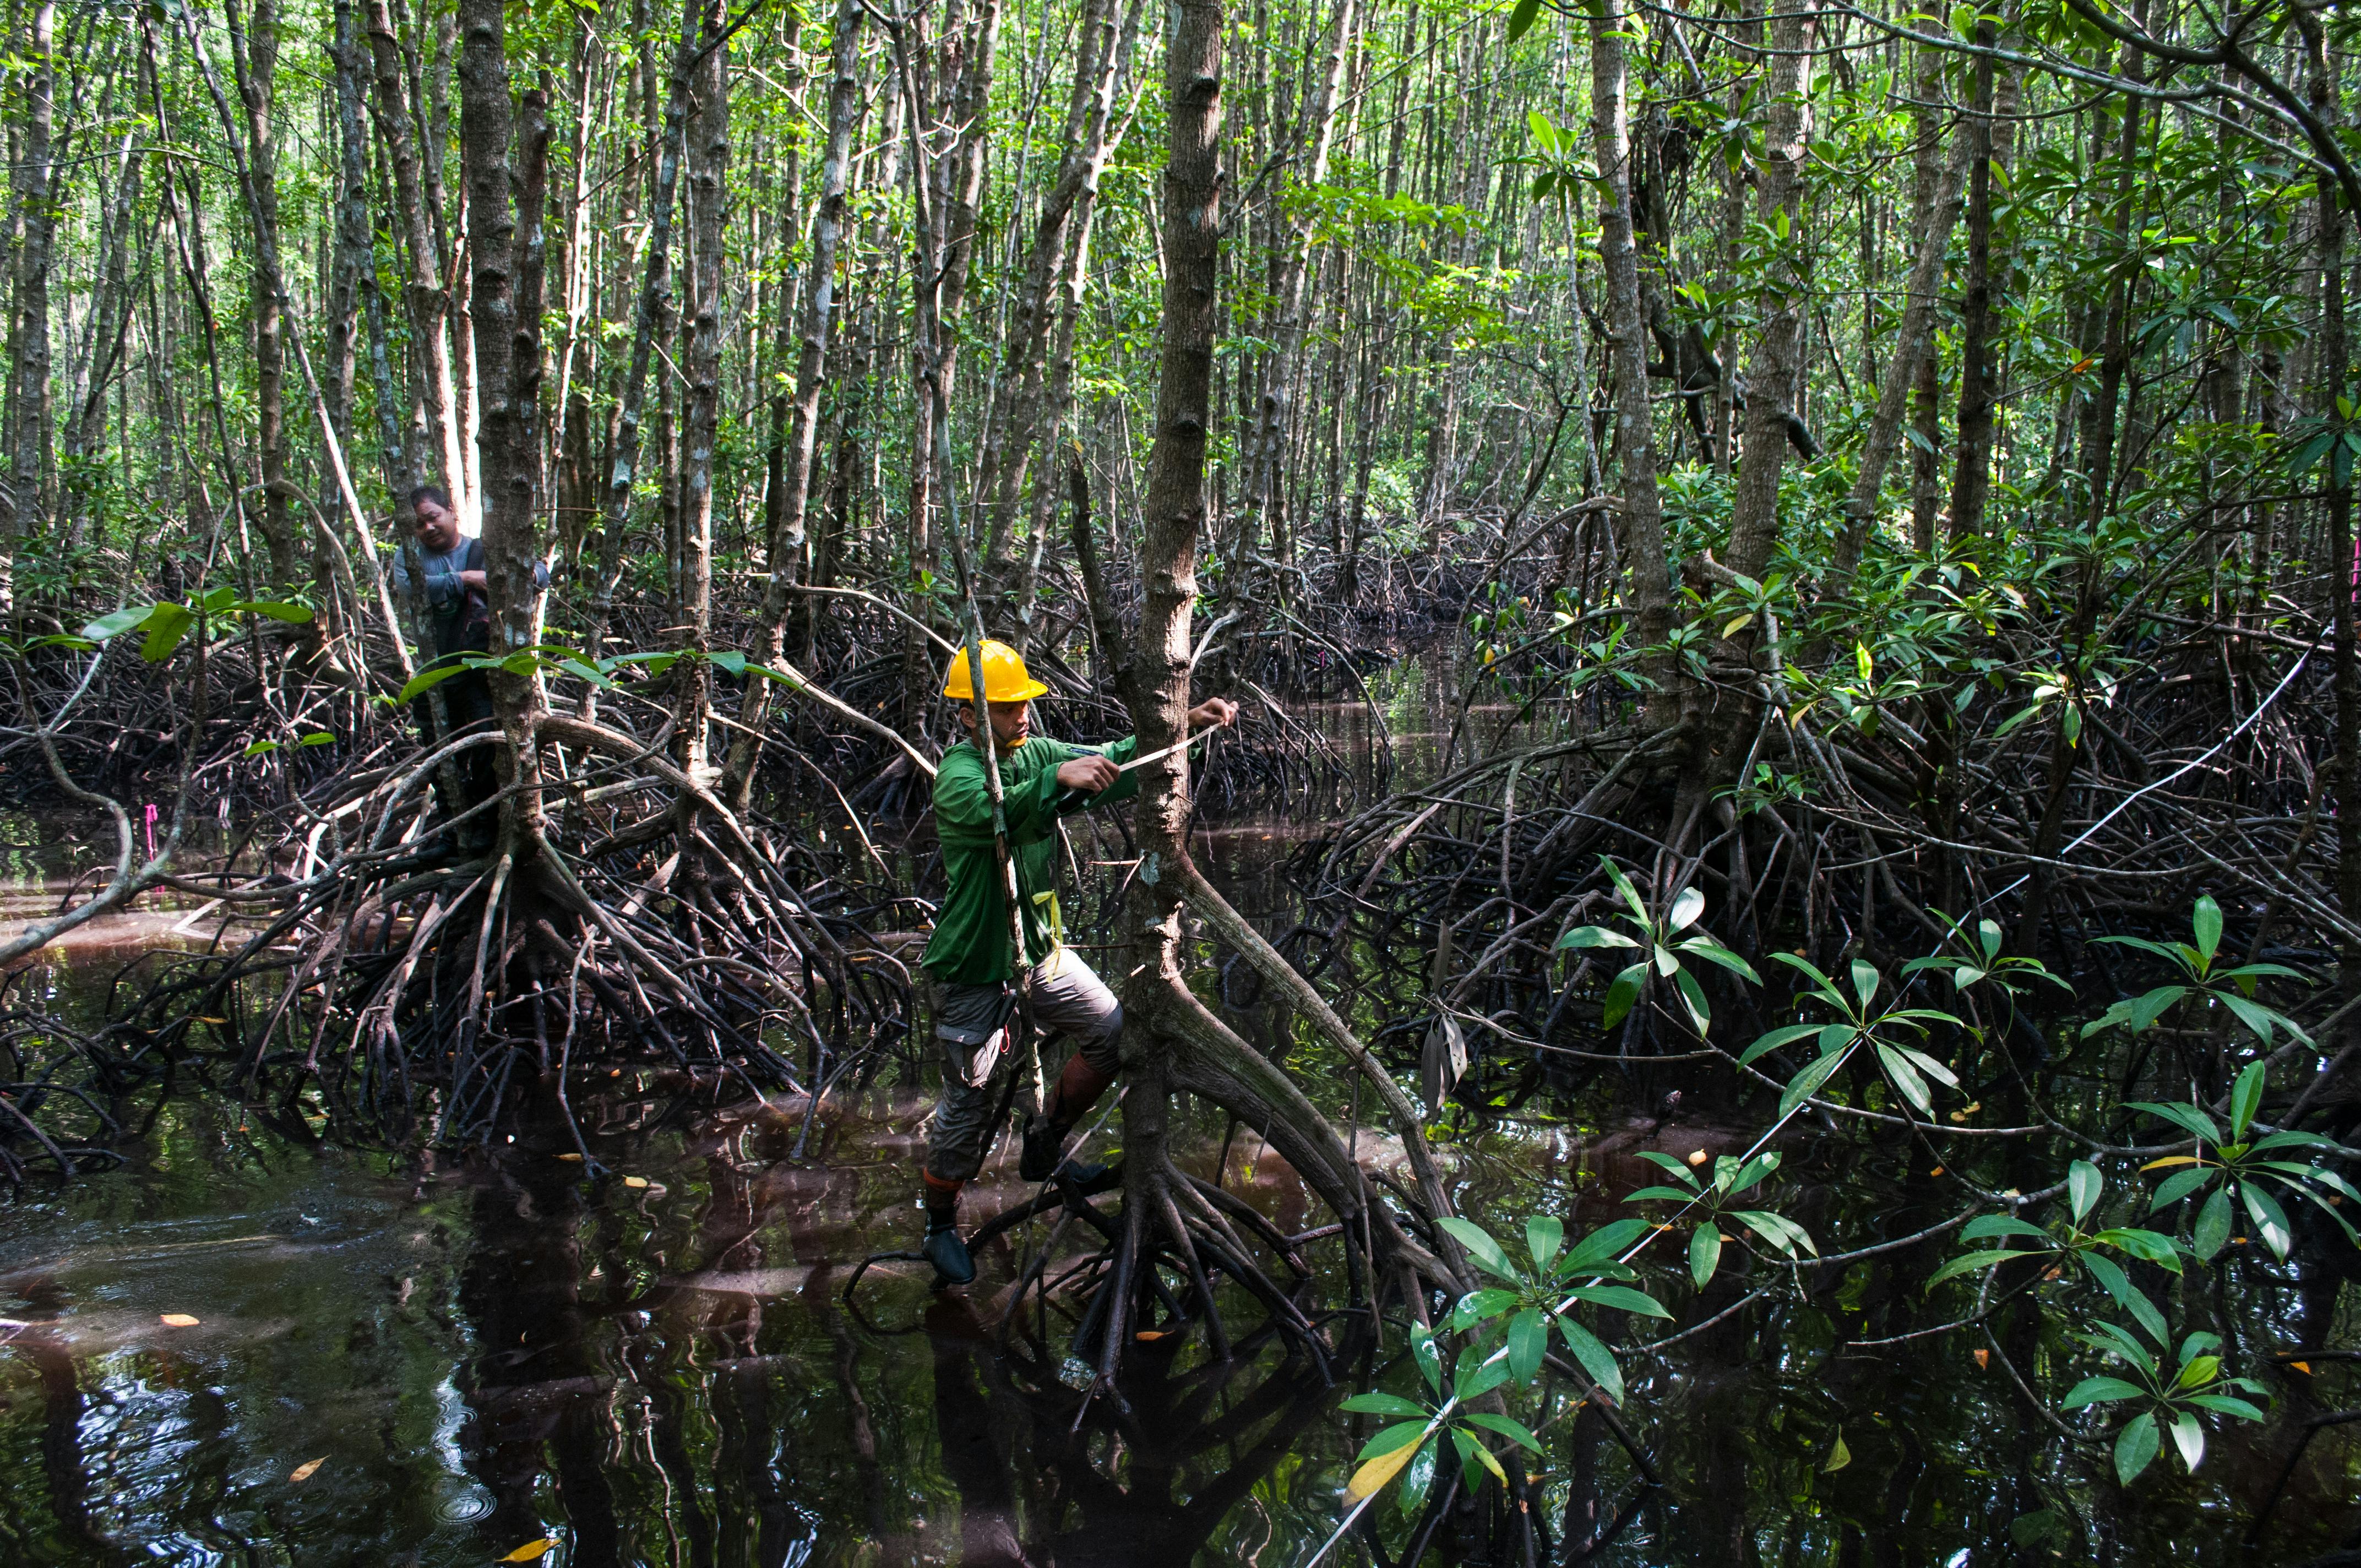
[[[1695,1034],[1709,1039],[1712,1015],[1705,1013],[1702,997],[1693,999],[1690,987],[1679,985],[1690,978],[1686,961],[1707,956],[1754,985],[1761,985],[1761,978],[1745,959],[1695,930],[1705,912],[1702,893],[1683,888],[1657,914],[1620,867],[1613,862],[1603,867],[1627,914],[1617,916],[1617,926],[1577,926],[1558,947],[1639,954],[1608,982],[1605,1027],[1615,1027],[1641,1006],[1653,1006],[1657,1013],[1679,1006]],[[1525,1221],[1523,1249],[1499,1242],[1471,1221],[1438,1221],[1487,1275],[1487,1285],[1461,1296],[1433,1332],[1412,1327],[1412,1360],[1426,1381],[1428,1400],[1365,1393],[1346,1403],[1353,1412],[1400,1417],[1362,1450],[1348,1500],[1367,1500],[1395,1476],[1407,1476],[1398,1502],[1402,1511],[1421,1507],[1445,1440],[1469,1481],[1492,1474],[1499,1459],[1485,1452],[1485,1433],[1525,1445],[1532,1431],[1516,1419],[1487,1419],[1464,1405],[1487,1396],[1506,1398],[1530,1386],[1544,1367],[1554,1334],[1598,1396],[1624,1403],[1627,1358],[1620,1360],[1598,1334],[1577,1322],[1575,1308],[1589,1304],[1650,1318],[1669,1315],[1646,1294],[1641,1275],[1643,1254],[1657,1237],[1667,1237],[1669,1247],[1672,1237],[1686,1233],[1686,1275],[1695,1289],[1721,1275],[1733,1242],[1768,1266],[1818,1259],[1820,1247],[1811,1233],[1766,1197],[1783,1162],[1780,1152],[1766,1145],[1787,1119],[1827,1091],[1844,1065],[1863,1053],[1877,1060],[1884,1084],[1917,1117],[1931,1119],[1934,1084],[1960,1086],[1955,1067],[1929,1048],[1931,1037],[1981,1041],[1979,1023],[1964,1015],[1979,997],[2014,1018],[2016,1004],[2035,989],[2068,999],[2073,994],[2071,985],[2038,959],[2007,952],[1995,921],[1953,916],[1943,921],[1943,947],[1901,963],[1896,982],[1860,959],[1846,963],[1839,978],[1801,954],[1768,954],[1799,978],[1792,1004],[1818,1011],[1820,1018],[1773,1027],[1733,1060],[1750,1067],[1806,1041],[1813,1058],[1780,1084],[1778,1122],[1745,1155],[1709,1159],[1698,1150],[1681,1159],[1662,1150],[1641,1150],[1641,1159],[1657,1167],[1665,1178],[1627,1193],[1624,1202],[1669,1204],[1662,1219],[1615,1221],[1568,1247],[1563,1221],[1539,1214]],[[1683,937],[1690,930],[1695,935]],[[2257,1001],[2264,982],[2300,982],[2302,975],[2274,963],[2217,966],[2222,933],[2222,909],[2215,900],[2200,897],[2191,912],[2189,942],[2125,937],[2125,945],[2177,966],[2182,985],[2160,987],[2172,992],[2170,997],[2115,1004],[2080,1025],[2075,1034],[2149,1027],[2184,1001],[2210,999],[2226,1008],[2236,999],[2243,1006],[2226,1011],[2248,1030],[2252,1044],[2269,1046],[2281,1034],[2302,1039],[2285,1013]],[[1655,1001],[1650,985],[1660,980],[1674,985],[1665,987],[1669,997]],[[1910,994],[1943,980],[1960,1013],[1917,1006]],[[2113,1474],[2125,1485],[2146,1474],[2165,1436],[2172,1438],[2182,1464],[2193,1471],[2205,1457],[2208,1422],[2259,1422],[2264,1415],[2262,1384],[2224,1370],[2217,1334],[2186,1325],[2177,1332],[2172,1318],[2184,1292],[2158,1285],[2212,1266],[2234,1240],[2229,1230],[2238,1211],[2264,1247],[2285,1259],[2293,1230],[2267,1188],[2307,1197],[2337,1223],[2342,1235],[2361,1242],[2340,1214],[2340,1204],[2361,1204],[2361,1190],[2328,1169],[2328,1162],[2349,1159],[2354,1150],[2316,1133],[2259,1126],[2267,1079],[2269,1063],[2248,1060],[2229,1089],[2224,1115],[2198,1103],[2132,1103],[2130,1110],[2163,1119],[2196,1141],[2196,1152],[2170,1152],[2141,1167],[2170,1171],[2146,1200],[2137,1183],[2118,1185],[2111,1195],[2099,1157],[2073,1159],[2056,1188],[2030,1197],[2012,1190],[2002,1195],[2000,1207],[1969,1214],[1957,1226],[1957,1242],[1964,1247],[1927,1278],[1929,1292],[1964,1292],[1969,1299],[1969,1313],[1950,1327],[1983,1325],[2028,1292],[2056,1296],[2061,1311],[2089,1325],[2071,1337],[2127,1374],[2082,1377],[2059,1405],[2066,1412],[2127,1407],[2120,1412],[2120,1424],[2111,1424],[2104,1433]],[[2186,1233],[2167,1223],[2196,1197],[2203,1197],[2203,1204],[2196,1207]],[[1655,1266],[1665,1268],[1667,1261],[1657,1259]],[[2123,1313],[2125,1322],[2104,1315],[2108,1311]],[[1988,1351],[1976,1351],[1979,1363],[1986,1355]],[[2028,1367],[2016,1372],[2026,1379],[2038,1377],[2038,1370]],[[1849,1459],[1842,1436],[1832,1452],[1823,1466],[1827,1471],[1842,1469]],[[2092,1452],[2099,1452],[2097,1440]]]

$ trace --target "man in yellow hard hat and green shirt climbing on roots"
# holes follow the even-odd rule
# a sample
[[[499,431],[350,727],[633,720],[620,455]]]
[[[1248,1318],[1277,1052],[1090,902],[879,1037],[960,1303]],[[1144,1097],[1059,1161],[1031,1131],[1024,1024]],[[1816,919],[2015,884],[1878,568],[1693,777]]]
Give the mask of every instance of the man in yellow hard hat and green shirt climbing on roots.
[[[1025,1126],[1018,1171],[1025,1181],[1048,1181],[1065,1155],[1074,1122],[1114,1082],[1117,1039],[1124,1008],[1107,982],[1060,940],[1058,921],[1058,817],[1129,801],[1140,779],[1124,772],[1138,753],[1138,737],[1103,751],[1067,746],[1032,734],[1032,699],[1048,692],[1025,673],[1025,661],[1006,642],[985,642],[985,699],[1001,770],[1001,808],[1008,819],[1008,860],[1018,878],[1018,919],[1025,933],[1022,963],[1029,973],[1032,1020],[1048,1034],[1074,1041],[1074,1056],[1058,1072],[1048,1105]],[[985,1164],[985,1148],[1006,1112],[1006,1086],[1018,1070],[1011,1051],[1015,1015],[1015,968],[1011,963],[1008,888],[999,874],[992,834],[992,784],[985,753],[975,746],[968,654],[951,661],[944,697],[956,699],[968,739],[942,756],[935,775],[935,829],[949,890],[935,916],[921,968],[935,982],[935,1039],[942,1041],[942,1100],[928,1133],[926,1164],[926,1259],[944,1285],[975,1278],[975,1261],[959,1237],[959,1190]],[[1188,713],[1188,730],[1228,725],[1237,706],[1202,701]],[[1096,1171],[1077,1169],[1088,1181]]]

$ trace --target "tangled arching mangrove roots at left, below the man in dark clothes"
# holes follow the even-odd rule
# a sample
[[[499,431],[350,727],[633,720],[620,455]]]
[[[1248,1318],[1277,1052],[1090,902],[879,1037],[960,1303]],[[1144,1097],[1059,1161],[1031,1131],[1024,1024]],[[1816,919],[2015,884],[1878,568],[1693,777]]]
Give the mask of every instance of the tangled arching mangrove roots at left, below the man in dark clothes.
[[[326,1117],[382,1138],[420,1119],[489,1136],[519,1079],[555,1074],[564,1100],[588,1067],[817,1110],[907,1034],[909,975],[850,912],[848,867],[739,822],[630,734],[545,716],[534,793],[552,819],[517,812],[510,784],[477,808],[508,805],[496,845],[453,852],[425,786],[479,739],[319,808],[316,869],[229,888],[269,919],[168,961],[135,1023],[290,1131]]]

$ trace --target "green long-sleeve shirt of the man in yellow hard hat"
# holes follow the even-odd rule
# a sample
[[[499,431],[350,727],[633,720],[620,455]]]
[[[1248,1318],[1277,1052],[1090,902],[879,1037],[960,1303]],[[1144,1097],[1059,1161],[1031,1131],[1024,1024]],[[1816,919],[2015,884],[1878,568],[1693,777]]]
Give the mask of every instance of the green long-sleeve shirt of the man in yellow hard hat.
[[[1067,746],[1046,734],[1027,737],[1015,751],[1001,753],[1001,801],[1008,808],[1008,857],[1018,867],[1018,909],[1025,916],[1025,963],[1039,963],[1055,947],[1048,900],[1058,888],[1058,770],[1077,756],[1100,751],[1114,763],[1129,763],[1140,749],[1138,737],[1112,746]],[[1067,805],[1103,805],[1140,793],[1140,775],[1126,772],[1096,796]],[[1008,904],[992,857],[992,786],[985,779],[985,753],[975,741],[959,741],[942,753],[935,772],[935,831],[942,841],[942,869],[949,893],[935,916],[935,935],[926,945],[921,968],[947,985],[996,985],[1008,978]],[[1039,900],[1039,902],[1036,902]]]

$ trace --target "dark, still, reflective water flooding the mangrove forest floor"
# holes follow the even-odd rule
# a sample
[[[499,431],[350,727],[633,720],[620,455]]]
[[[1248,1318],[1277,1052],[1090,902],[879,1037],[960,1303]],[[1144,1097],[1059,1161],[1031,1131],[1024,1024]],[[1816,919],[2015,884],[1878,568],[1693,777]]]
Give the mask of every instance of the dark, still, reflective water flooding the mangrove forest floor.
[[[1299,718],[1365,765],[1391,753],[1400,789],[1433,770],[1452,687],[1447,666],[1402,661],[1379,682],[1381,727],[1358,704]],[[1294,919],[1287,857],[1320,831],[1306,815],[1216,796],[1199,819],[1209,874],[1265,930]],[[45,914],[87,869],[64,827],[0,822],[0,914]],[[923,822],[866,827],[888,855],[902,843],[904,869],[923,857]],[[1114,930],[1103,897],[1124,850],[1098,827],[1074,852],[1091,897],[1070,935],[1088,947]],[[142,947],[198,940],[196,904],[94,923],[17,985],[94,1011]],[[1258,1046],[1294,1037],[1235,1006],[1218,973],[1202,987]],[[1325,1110],[1367,1112],[1350,1074],[1296,1051]],[[1660,1178],[1643,1152],[1742,1150],[1761,1108],[1740,1110],[1712,1082],[1724,1070],[1690,1070],[1568,1077],[1495,1058],[1435,1122],[1461,1214],[1497,1235],[1542,1211],[1598,1226]],[[420,1162],[305,1141],[217,1096],[170,1100],[118,1169],[0,1209],[0,1563],[444,1566],[536,1561],[536,1547],[564,1568],[1306,1563],[1367,1436],[1336,1403],[1407,1386],[1400,1334],[1334,1386],[1275,1341],[1209,1370],[1176,1334],[1126,1363],[1126,1410],[1086,1410],[1055,1377],[1055,1334],[996,1339],[1020,1256],[1006,1242],[968,1292],[885,1263],[848,1296],[864,1256],[916,1242],[930,1091],[888,1070],[807,1117],[614,1070],[571,1100],[602,1171],[555,1105],[527,1105],[491,1148]],[[1365,1159],[1400,1159],[1360,1124]],[[1280,1230],[1320,1226],[1251,1133],[1199,1117],[1176,1143]],[[1790,1211],[1823,1252],[1953,1202],[1908,1150],[1818,1131],[1783,1150]],[[1020,1197],[1001,1141],[968,1219]],[[1308,1256],[1341,1275],[1339,1249]],[[1679,1259],[1655,1273],[1665,1299],[1688,1294]],[[1759,1285],[1728,1268],[1676,1325],[1634,1320],[1624,1415],[1662,1485],[1577,1417],[1549,1443],[1551,1535],[1598,1540],[1594,1563],[1964,1568],[2295,1563],[2352,1528],[2349,1502],[2290,1497],[2267,1547],[2241,1547],[2276,1474],[2269,1431],[2222,1433],[2193,1478],[2158,1471],[2127,1492],[2066,1459],[1967,1341],[1860,1346],[1941,1315],[1919,1278],[1865,1261],[1724,1318]],[[1346,1294],[1336,1280],[1332,1299]],[[2349,1433],[2326,1433],[2316,1464],[2349,1476]],[[1381,1537],[1400,1551],[1391,1509]],[[1435,1554],[1476,1561],[1450,1530]],[[1327,1561],[1372,1554],[1348,1540]]]

